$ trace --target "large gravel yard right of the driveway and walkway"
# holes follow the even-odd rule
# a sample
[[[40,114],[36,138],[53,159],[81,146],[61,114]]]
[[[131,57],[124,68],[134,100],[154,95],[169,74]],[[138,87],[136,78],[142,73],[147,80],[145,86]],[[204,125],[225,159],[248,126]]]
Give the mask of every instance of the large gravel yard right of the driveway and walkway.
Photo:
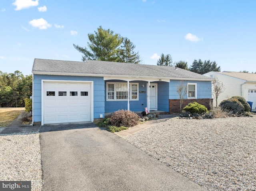
[[[124,137],[210,190],[256,190],[256,117],[171,118]]]

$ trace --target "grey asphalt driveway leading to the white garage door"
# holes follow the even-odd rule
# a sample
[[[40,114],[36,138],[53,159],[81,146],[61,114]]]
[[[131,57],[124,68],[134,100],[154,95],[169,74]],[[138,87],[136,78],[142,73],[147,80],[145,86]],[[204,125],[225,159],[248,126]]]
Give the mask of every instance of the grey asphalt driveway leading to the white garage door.
[[[43,190],[204,190],[92,123],[40,128]]]

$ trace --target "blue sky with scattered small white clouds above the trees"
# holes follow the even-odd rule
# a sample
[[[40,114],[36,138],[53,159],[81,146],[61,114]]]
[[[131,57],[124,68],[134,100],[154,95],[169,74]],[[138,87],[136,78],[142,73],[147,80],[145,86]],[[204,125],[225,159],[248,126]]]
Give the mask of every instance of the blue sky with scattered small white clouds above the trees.
[[[216,61],[256,72],[255,0],[1,0],[0,71],[31,74],[34,58],[81,61],[99,26],[128,37],[143,64]]]

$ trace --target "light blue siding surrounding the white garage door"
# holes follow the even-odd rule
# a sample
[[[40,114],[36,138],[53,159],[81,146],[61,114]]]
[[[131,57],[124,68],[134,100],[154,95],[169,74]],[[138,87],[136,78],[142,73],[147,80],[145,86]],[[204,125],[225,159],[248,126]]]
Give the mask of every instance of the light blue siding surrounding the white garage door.
[[[55,75],[34,75],[33,85],[33,117],[34,122],[41,122],[41,91],[42,91],[42,79],[44,80],[74,80],[74,81],[94,81],[94,118],[99,118],[100,114],[105,112],[105,85],[103,77],[76,77],[76,76],[55,76]]]

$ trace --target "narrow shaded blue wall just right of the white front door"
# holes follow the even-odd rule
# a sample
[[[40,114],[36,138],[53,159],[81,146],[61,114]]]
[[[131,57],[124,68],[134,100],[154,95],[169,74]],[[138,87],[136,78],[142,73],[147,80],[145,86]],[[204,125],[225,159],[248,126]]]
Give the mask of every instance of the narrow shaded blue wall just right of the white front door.
[[[169,83],[158,82],[158,110],[169,112]]]

